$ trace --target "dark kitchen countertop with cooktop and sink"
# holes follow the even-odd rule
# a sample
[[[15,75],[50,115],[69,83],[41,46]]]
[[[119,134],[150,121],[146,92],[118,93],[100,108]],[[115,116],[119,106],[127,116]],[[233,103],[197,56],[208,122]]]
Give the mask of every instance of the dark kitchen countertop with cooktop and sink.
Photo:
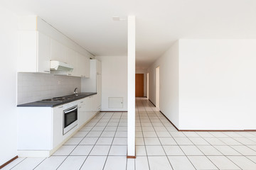
[[[72,101],[77,101],[81,98],[86,98],[88,96],[95,95],[97,93],[80,93],[78,96],[75,96],[74,94],[68,95],[68,96],[61,96],[61,97],[70,97],[64,101],[35,101],[31,103],[24,103],[24,104],[19,104],[17,107],[55,107],[59,105],[63,105],[65,103],[70,103]]]

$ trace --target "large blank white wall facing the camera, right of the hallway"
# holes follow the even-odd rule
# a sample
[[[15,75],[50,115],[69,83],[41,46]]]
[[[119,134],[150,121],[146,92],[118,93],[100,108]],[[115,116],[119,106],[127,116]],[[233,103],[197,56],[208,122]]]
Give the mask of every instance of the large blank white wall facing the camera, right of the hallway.
[[[256,40],[180,40],[182,130],[256,130]]]

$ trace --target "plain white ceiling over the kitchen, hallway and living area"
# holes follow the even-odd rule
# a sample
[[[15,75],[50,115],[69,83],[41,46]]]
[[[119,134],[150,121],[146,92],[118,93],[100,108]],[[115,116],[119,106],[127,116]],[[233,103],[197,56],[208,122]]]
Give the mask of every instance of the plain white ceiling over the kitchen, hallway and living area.
[[[136,67],[146,69],[180,38],[256,38],[255,0],[0,0],[33,14],[94,55],[127,55],[127,21],[135,15]]]

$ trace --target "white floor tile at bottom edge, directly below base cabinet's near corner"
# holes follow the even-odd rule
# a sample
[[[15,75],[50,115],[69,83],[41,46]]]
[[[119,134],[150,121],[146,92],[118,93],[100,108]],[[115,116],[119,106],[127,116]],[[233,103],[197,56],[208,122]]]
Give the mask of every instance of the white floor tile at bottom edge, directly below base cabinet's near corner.
[[[36,170],[55,170],[66,159],[64,156],[52,156],[46,158],[41,164],[36,167]]]

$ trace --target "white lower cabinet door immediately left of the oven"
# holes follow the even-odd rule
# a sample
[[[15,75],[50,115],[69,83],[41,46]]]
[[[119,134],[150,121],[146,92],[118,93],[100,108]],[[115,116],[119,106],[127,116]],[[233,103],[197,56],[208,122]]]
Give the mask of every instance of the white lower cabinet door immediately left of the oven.
[[[63,106],[53,108],[53,148],[63,141]]]

